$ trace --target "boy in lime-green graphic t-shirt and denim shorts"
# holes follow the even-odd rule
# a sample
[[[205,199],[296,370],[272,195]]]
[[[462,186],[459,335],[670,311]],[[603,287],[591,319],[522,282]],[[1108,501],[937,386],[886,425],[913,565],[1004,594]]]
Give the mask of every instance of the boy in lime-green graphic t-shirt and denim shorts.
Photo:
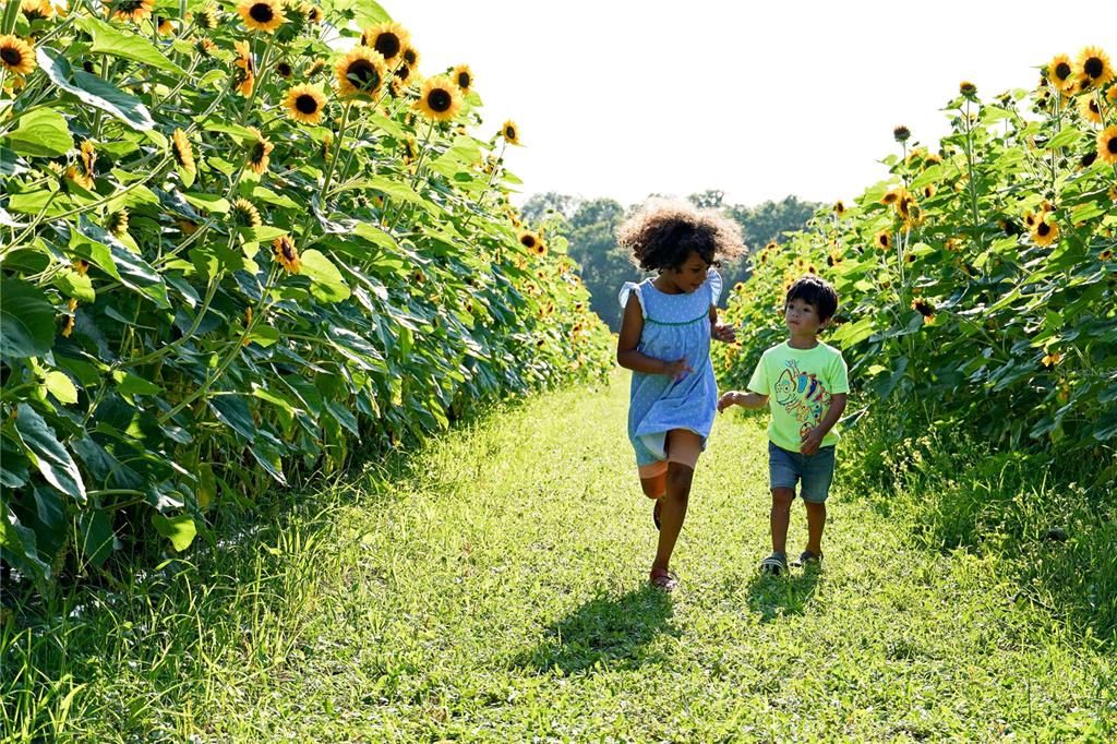
[[[822,561],[822,527],[827,496],[834,474],[834,425],[846,410],[849,372],[841,352],[818,340],[838,309],[838,293],[824,279],[798,279],[784,299],[790,337],[764,352],[748,381],[750,392],[736,390],[717,401],[718,412],[731,406],[770,404],[768,480],[772,488],[772,555],[761,562],[764,573],[787,571],[787,523],[795,484],[806,506],[806,550],[792,565]]]

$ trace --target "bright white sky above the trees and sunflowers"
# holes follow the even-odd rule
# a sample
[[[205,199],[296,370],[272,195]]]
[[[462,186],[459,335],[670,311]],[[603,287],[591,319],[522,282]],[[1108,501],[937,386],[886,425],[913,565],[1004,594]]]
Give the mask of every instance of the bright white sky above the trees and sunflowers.
[[[935,144],[941,107],[1030,88],[1053,55],[1117,60],[1117,2],[382,0],[420,71],[468,64],[487,139],[505,118],[523,197],[722,189],[831,201],[887,175],[892,127]],[[523,197],[519,199],[522,201]]]

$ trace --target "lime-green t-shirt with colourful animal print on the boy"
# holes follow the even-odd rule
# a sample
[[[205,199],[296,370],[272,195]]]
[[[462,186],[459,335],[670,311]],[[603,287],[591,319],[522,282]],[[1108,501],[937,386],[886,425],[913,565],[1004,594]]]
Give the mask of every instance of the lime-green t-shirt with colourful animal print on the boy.
[[[813,349],[792,349],[785,341],[764,352],[748,389],[768,397],[768,439],[798,452],[803,435],[825,418],[831,395],[849,392],[849,370],[833,346],[820,341]],[[838,439],[834,426],[822,439],[822,447],[836,445]]]

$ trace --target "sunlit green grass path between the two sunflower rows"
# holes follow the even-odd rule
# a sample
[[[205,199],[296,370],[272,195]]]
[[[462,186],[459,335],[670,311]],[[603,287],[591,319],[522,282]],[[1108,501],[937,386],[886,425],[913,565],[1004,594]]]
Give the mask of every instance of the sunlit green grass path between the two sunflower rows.
[[[259,531],[2,633],[9,741],[1111,741],[1111,650],[999,559],[831,498],[761,578],[763,418],[723,417],[674,567],[628,378],[541,395],[276,505]],[[840,457],[850,457],[841,452]],[[793,511],[792,550],[805,540]]]

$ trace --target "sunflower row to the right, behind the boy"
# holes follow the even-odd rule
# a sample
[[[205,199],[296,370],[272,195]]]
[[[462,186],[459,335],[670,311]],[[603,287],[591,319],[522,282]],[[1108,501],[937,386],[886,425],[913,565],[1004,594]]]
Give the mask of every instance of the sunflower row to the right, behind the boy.
[[[890,178],[753,255],[718,350],[747,382],[805,273],[840,297],[851,379],[889,410],[994,447],[1108,452],[1117,438],[1117,84],[1102,49],[1059,55],[1033,90],[962,83],[936,150],[896,127]],[[1110,474],[1113,475],[1113,474]]]

